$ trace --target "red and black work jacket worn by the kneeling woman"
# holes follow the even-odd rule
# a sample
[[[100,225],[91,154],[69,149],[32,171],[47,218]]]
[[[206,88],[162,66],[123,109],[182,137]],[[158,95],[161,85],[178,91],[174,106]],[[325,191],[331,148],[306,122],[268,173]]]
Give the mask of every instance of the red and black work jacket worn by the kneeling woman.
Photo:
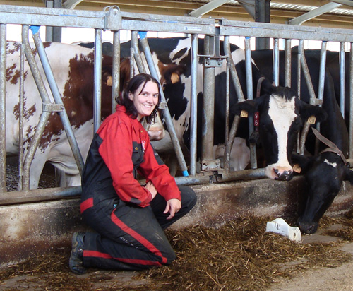
[[[114,191],[109,191],[112,187],[122,201],[148,206],[152,195],[140,186],[137,173],[146,182],[152,181],[166,201],[181,199],[179,188],[152,148],[148,133],[138,119],[128,117],[125,107],[118,105],[116,112],[104,120],[90,145],[82,176],[81,212],[98,201],[114,198]]]

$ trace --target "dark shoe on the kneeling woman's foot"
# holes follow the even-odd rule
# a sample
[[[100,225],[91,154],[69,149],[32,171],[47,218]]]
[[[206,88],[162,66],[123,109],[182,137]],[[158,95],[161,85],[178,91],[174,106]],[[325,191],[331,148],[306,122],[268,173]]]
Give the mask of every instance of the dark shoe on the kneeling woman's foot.
[[[72,237],[72,250],[68,266],[71,271],[77,275],[86,273],[86,268],[83,266],[83,238],[85,232],[75,232]]]

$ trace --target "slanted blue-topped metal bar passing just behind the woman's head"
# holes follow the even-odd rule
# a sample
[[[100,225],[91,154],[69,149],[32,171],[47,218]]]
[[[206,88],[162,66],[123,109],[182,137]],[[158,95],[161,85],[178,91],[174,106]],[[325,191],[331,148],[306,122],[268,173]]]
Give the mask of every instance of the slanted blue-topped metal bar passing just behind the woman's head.
[[[150,47],[148,45],[147,38],[145,36],[143,36],[143,34],[140,34],[140,43],[143,47],[143,52],[145,53],[145,58],[146,58],[148,67],[150,68],[151,75],[154,76],[158,80],[158,73],[157,73],[157,69],[155,69],[155,63],[153,62],[153,59],[152,59]],[[189,176],[189,173],[188,173],[188,170],[186,167],[186,162],[184,159],[184,155],[181,150],[179,140],[177,138],[177,133],[175,132],[175,129],[174,129],[172,117],[170,116],[169,109],[167,109],[167,102],[165,100],[163,91],[161,91],[161,100],[162,100],[162,102],[165,102],[165,104],[166,104],[166,109],[164,109],[164,119],[166,121],[167,128],[168,128],[170,137],[172,139],[172,143],[174,145],[174,150],[177,155],[177,159],[178,159],[179,165],[181,167],[181,171],[184,176]]]

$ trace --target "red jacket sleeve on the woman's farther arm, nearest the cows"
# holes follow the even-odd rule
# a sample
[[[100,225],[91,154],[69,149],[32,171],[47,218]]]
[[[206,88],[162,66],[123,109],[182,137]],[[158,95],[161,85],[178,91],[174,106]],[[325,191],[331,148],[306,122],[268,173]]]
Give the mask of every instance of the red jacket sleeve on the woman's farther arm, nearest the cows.
[[[167,165],[164,165],[160,156],[155,152],[148,137],[147,139],[144,161],[138,169],[139,172],[143,174],[147,182],[152,181],[157,192],[162,195],[166,201],[172,198],[181,201],[179,187],[174,177],[169,174],[169,168]]]

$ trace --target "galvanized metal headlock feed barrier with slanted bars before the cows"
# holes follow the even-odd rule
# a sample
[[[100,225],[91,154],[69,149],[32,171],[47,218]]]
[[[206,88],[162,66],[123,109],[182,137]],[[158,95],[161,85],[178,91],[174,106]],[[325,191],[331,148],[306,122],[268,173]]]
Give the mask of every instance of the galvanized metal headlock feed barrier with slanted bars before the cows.
[[[23,203],[29,201],[44,201],[52,198],[64,198],[77,196],[80,193],[80,186],[73,186],[66,189],[41,189],[38,191],[30,191],[30,165],[32,158],[37,150],[38,143],[42,136],[42,132],[47,124],[49,115],[52,112],[58,112],[66,136],[71,145],[73,157],[75,158],[79,172],[82,172],[84,159],[78,148],[78,143],[71,129],[70,121],[66,114],[63,102],[61,100],[61,92],[56,85],[56,80],[52,73],[49,60],[46,56],[42,40],[40,39],[38,28],[40,26],[58,26],[58,27],[73,27],[73,28],[94,28],[95,29],[95,90],[94,90],[94,132],[97,131],[101,123],[101,84],[102,84],[102,30],[110,30],[113,32],[113,71],[112,71],[112,111],[114,111],[114,99],[119,95],[119,72],[120,72],[120,30],[131,30],[131,62],[136,64],[138,71],[132,73],[147,71],[145,64],[148,64],[148,71],[159,79],[155,63],[148,46],[148,37],[145,32],[171,32],[184,33],[191,35],[191,145],[190,145],[190,160],[189,171],[186,166],[186,160],[181,150],[181,145],[175,133],[172,122],[172,117],[169,114],[167,102],[162,94],[162,109],[165,123],[171,135],[174,150],[177,155],[179,167],[183,172],[184,177],[176,177],[178,184],[205,184],[213,182],[226,182],[236,179],[256,179],[264,177],[262,168],[256,165],[256,145],[250,144],[251,148],[251,170],[235,171],[229,170],[229,155],[230,149],[234,141],[234,136],[237,132],[240,117],[235,117],[232,124],[226,122],[226,138],[225,138],[225,163],[220,166],[220,161],[213,157],[213,108],[215,95],[215,67],[222,66],[223,61],[227,62],[227,104],[225,116],[229,116],[229,83],[233,82],[237,90],[239,101],[253,99],[253,91],[247,90],[247,95],[241,91],[241,85],[237,76],[237,71],[230,54],[230,36],[245,37],[245,61],[246,61],[246,76],[251,76],[251,37],[268,37],[273,38],[273,80],[275,85],[279,83],[279,42],[285,40],[285,78],[286,85],[290,86],[290,67],[291,67],[291,40],[299,40],[298,48],[298,73],[303,73],[306,83],[309,87],[310,103],[312,105],[321,105],[323,102],[323,82],[325,78],[325,56],[327,42],[340,42],[340,109],[342,115],[345,114],[345,43],[350,44],[350,72],[353,71],[353,31],[343,29],[329,28],[313,28],[297,25],[277,25],[271,23],[247,23],[231,20],[215,20],[211,18],[192,18],[181,16],[158,16],[143,13],[126,13],[119,11],[117,6],[104,8],[104,11],[76,11],[59,8],[33,8],[20,6],[0,6],[0,205],[11,203]],[[32,138],[30,148],[27,150],[27,155],[22,156],[23,148],[19,150],[20,161],[20,177],[22,177],[22,191],[6,192],[6,25],[20,24],[23,25],[22,44],[20,62],[23,64],[28,61],[30,70],[35,78],[35,82],[40,96],[42,98],[42,114],[38,120],[37,131]],[[143,28],[143,32],[141,32]],[[41,64],[37,64],[33,57],[30,43],[28,40],[28,30],[32,31],[35,48],[40,56]],[[198,55],[198,37],[205,38],[204,54]],[[220,40],[224,41],[225,52],[220,52]],[[322,42],[321,48],[321,66],[320,66],[320,85],[318,88],[318,96],[315,94],[306,58],[304,55],[304,40],[319,40]],[[79,40],[78,40],[79,41]],[[143,57],[138,49],[138,42],[143,47]],[[199,59],[204,60],[203,72],[198,71]],[[25,60],[26,59],[26,60]],[[38,66],[42,66],[51,95],[47,92],[44,86],[42,76],[40,76]],[[131,66],[133,68],[133,66]],[[197,86],[196,80],[198,74],[203,74],[203,112],[205,112],[205,120],[203,121],[202,131],[202,153],[201,165],[204,174],[196,174],[196,124],[201,122],[197,120]],[[23,108],[23,65],[21,72],[21,80],[19,85],[19,104]],[[300,81],[300,78],[298,78]],[[247,88],[253,88],[251,77],[246,78]],[[298,85],[300,88],[300,85]],[[350,94],[352,97],[353,82],[352,77],[349,82]],[[300,95],[300,92],[298,92]],[[353,143],[352,143],[352,103],[349,108],[349,158],[352,158]],[[22,112],[23,114],[23,112]],[[249,131],[253,132],[253,118],[249,116]],[[227,120],[227,118],[226,118]],[[23,116],[20,117],[20,126],[23,126]],[[298,142],[297,151],[303,153],[306,134],[309,130],[309,124],[306,122],[303,131],[301,132]],[[21,131],[20,131],[21,132]],[[229,134],[228,134],[229,133]],[[23,133],[19,137],[19,144],[23,144]],[[190,175],[189,175],[190,174]]]

